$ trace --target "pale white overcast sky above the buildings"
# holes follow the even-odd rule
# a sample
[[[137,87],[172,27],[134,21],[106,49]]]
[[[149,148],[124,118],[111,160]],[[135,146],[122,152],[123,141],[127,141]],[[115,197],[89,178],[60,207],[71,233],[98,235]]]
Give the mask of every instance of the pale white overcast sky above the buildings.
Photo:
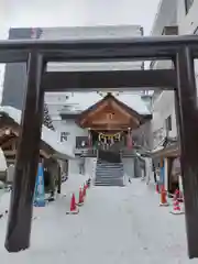
[[[0,38],[7,38],[11,26],[99,24],[140,24],[147,35],[158,2],[160,0],[0,0]]]

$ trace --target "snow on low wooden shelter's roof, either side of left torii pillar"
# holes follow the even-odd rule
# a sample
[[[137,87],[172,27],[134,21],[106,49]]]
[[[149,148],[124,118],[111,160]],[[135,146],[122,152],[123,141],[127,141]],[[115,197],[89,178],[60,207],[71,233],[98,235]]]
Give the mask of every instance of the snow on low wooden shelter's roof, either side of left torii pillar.
[[[21,123],[21,111],[13,107],[0,107],[0,112],[7,113],[18,124]],[[68,142],[61,142],[58,133],[47,129],[45,125],[42,128],[42,140],[50,145],[56,153],[67,156],[67,158],[75,157],[74,148]]]

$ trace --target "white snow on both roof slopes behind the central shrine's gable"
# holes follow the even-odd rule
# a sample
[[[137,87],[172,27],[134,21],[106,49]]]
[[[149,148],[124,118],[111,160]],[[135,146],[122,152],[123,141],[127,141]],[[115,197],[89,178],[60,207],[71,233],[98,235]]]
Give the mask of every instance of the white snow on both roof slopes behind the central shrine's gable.
[[[147,109],[145,102],[142,100],[140,94],[130,94],[130,92],[118,92],[112,95],[121,102],[125,103],[128,107],[132,108],[140,114],[151,114],[151,111]],[[92,92],[75,92],[74,96],[69,96],[66,101],[66,106],[69,106],[69,111],[72,112],[81,112],[102,100],[102,96]]]

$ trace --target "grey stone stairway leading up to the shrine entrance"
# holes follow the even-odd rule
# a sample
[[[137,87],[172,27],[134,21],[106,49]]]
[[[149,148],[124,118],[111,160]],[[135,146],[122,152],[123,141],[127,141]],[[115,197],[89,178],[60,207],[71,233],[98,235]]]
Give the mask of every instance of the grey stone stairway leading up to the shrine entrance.
[[[96,167],[96,186],[124,186],[123,164],[119,153],[99,151]]]

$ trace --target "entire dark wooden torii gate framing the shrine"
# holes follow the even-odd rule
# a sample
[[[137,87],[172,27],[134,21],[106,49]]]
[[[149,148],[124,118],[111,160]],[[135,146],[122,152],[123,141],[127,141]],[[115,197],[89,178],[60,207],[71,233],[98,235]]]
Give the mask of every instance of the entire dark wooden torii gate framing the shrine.
[[[194,58],[198,36],[162,36],[128,40],[2,41],[0,63],[28,63],[22,131],[6,249],[30,246],[32,200],[38,162],[44,91],[95,88],[161,88],[175,90],[182,148],[182,175],[186,206],[189,257],[198,257],[198,111]],[[173,69],[51,73],[48,62],[112,62],[172,59]],[[13,86],[14,89],[14,86]]]

